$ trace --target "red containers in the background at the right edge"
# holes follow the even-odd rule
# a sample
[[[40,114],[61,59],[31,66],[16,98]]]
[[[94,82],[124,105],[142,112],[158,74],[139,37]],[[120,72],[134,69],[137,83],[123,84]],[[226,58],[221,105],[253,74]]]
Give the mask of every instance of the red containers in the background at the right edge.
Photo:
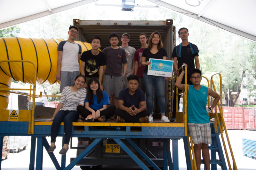
[[[256,130],[255,107],[227,107],[223,106],[223,118],[227,129]],[[217,107],[217,112],[219,108]]]

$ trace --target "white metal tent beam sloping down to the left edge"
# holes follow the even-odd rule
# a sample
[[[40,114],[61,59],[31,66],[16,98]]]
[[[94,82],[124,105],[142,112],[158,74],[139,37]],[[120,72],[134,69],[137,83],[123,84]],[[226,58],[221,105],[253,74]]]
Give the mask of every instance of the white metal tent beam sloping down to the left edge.
[[[96,1],[98,1],[98,0],[96,0]],[[54,14],[54,13],[57,13],[57,12],[65,11],[65,10],[75,8],[75,7],[84,5],[84,4],[89,4],[89,3],[92,3],[92,2],[94,2],[94,0],[82,0],[82,1],[79,1],[79,2],[72,3],[72,4],[60,6],[58,8],[54,8],[54,9],[51,9],[49,7],[52,12],[49,10],[49,8],[48,8],[49,5],[48,5],[47,6],[48,11],[40,12],[40,13],[30,15],[30,16],[27,16],[27,17],[23,17],[23,18],[15,19],[15,20],[8,21],[8,22],[5,22],[5,23],[1,23],[0,24],[0,29],[8,28],[10,26],[14,26],[14,25],[26,22],[26,21],[30,21],[30,20],[33,20],[33,19],[36,19],[36,18],[41,18],[41,17],[47,16],[47,15],[51,15],[51,14]]]

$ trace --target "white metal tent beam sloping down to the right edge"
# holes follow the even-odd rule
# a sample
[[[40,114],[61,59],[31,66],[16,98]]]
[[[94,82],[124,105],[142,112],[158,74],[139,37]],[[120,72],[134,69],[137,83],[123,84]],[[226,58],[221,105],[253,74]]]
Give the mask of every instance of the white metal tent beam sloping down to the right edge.
[[[161,1],[161,0],[148,0],[148,1],[155,3],[156,6],[158,6],[158,5],[163,6],[165,8],[171,9],[173,11],[176,11],[176,12],[179,12],[181,14],[187,15],[189,17],[195,18],[197,20],[203,21],[203,22],[205,22],[207,24],[210,24],[210,25],[216,26],[218,28],[224,29],[224,30],[226,30],[226,31],[228,31],[230,33],[234,33],[236,35],[244,37],[244,38],[246,38],[246,39],[248,39],[250,41],[256,42],[256,36],[251,35],[249,33],[245,33],[243,31],[237,30],[235,28],[232,28],[232,27],[220,24],[220,23],[218,23],[216,21],[213,21],[213,20],[208,19],[208,18],[204,18],[202,16],[200,18],[197,18],[197,14],[194,14],[192,12],[186,11],[186,10],[181,9],[179,7],[173,6],[173,5],[168,4],[168,3],[164,2],[164,1]]]

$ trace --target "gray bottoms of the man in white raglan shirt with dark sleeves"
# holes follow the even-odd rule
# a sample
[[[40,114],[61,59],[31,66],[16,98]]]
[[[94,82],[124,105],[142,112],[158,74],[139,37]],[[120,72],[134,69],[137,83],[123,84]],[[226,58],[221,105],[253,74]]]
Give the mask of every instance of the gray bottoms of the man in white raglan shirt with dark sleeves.
[[[66,86],[75,84],[75,78],[79,71],[60,71],[60,93]]]

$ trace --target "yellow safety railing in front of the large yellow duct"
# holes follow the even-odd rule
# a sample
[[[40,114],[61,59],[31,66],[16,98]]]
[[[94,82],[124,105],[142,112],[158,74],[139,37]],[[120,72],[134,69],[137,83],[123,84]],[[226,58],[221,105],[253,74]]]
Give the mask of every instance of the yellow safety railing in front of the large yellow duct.
[[[1,88],[0,89],[0,91],[3,91],[3,92],[15,93],[15,94],[25,95],[25,96],[29,96],[29,97],[31,97],[31,91],[32,91],[33,104],[32,104],[32,112],[31,112],[31,115],[29,116],[29,120],[28,120],[28,134],[34,134],[34,125],[35,125],[34,110],[35,110],[35,98],[36,98],[36,65],[35,65],[35,63],[28,61],[28,60],[2,60],[2,61],[0,61],[0,63],[4,63],[4,62],[7,62],[7,63],[11,63],[11,62],[30,63],[35,68],[35,77],[34,77],[33,88],[32,88],[32,85],[30,85],[29,89],[20,89],[20,88]],[[24,94],[21,92],[13,92],[13,91],[29,91],[30,94]]]

